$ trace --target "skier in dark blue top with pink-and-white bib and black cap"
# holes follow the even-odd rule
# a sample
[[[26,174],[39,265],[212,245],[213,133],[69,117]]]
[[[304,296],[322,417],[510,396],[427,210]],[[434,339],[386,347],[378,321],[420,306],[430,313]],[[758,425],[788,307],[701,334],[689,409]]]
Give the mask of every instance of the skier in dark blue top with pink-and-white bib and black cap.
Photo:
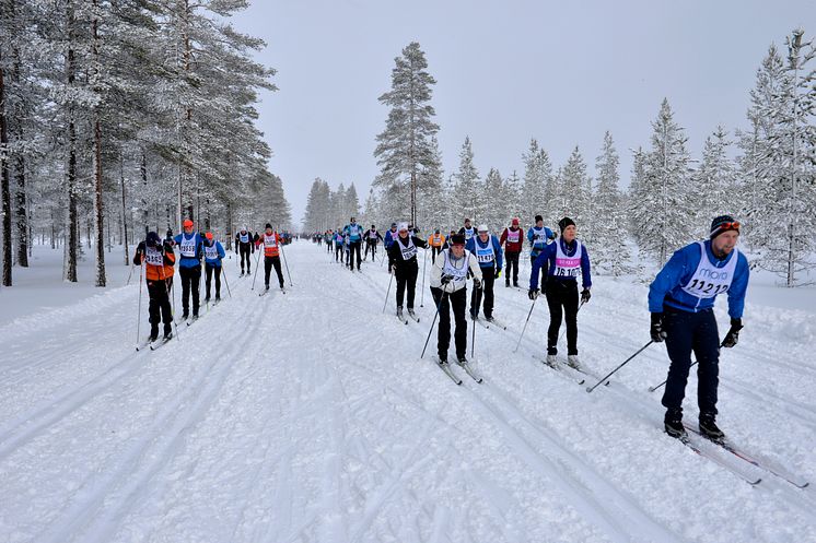
[[[538,219],[538,217],[536,217]],[[538,272],[546,264],[546,281],[541,291],[547,296],[550,311],[550,326],[547,329],[547,364],[556,367],[558,361],[558,331],[563,312],[567,322],[567,364],[579,369],[578,358],[578,274],[581,272],[583,290],[581,302],[590,302],[592,276],[590,275],[590,253],[584,244],[575,239],[575,223],[566,216],[558,222],[561,237],[546,246],[533,261],[529,274],[529,299],[538,297]],[[563,308],[563,311],[562,311]]]

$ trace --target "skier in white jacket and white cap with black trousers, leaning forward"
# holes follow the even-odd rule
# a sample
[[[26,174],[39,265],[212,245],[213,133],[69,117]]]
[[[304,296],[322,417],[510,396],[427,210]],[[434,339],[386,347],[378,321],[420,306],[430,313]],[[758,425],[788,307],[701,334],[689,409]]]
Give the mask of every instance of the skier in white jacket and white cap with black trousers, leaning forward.
[[[458,364],[467,364],[465,353],[467,351],[467,319],[465,318],[465,306],[467,305],[467,276],[468,272],[474,276],[474,287],[481,286],[481,269],[476,258],[465,249],[465,236],[454,234],[448,239],[451,247],[440,253],[440,258],[431,267],[431,294],[439,308],[439,335],[436,349],[441,364],[447,364],[447,349],[451,345],[451,314],[448,307],[453,307],[453,318],[456,322],[454,342],[456,345],[456,361]],[[475,324],[474,324],[475,326]]]

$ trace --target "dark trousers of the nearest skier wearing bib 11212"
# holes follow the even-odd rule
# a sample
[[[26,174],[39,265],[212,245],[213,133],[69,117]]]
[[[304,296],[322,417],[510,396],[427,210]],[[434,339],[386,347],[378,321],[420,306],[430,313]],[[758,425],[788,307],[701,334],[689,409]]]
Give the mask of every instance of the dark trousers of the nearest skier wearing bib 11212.
[[[663,393],[663,406],[683,410],[691,353],[697,357],[697,403],[701,414],[716,415],[716,389],[720,383],[720,333],[714,311],[689,312],[664,307],[666,352],[672,364]]]

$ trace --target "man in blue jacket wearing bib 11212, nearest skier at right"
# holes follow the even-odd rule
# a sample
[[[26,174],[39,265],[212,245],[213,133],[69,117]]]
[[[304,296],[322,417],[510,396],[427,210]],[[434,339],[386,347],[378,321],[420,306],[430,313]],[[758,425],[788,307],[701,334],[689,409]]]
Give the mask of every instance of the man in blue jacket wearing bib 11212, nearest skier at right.
[[[697,402],[700,408],[700,434],[722,440],[725,434],[716,426],[720,337],[714,318],[718,294],[727,293],[731,328],[722,342],[733,347],[743,328],[745,292],[748,288],[748,260],[736,248],[739,223],[721,215],[711,223],[709,239],[696,241],[676,251],[649,286],[649,310],[652,314],[652,341],[666,340],[668,367],[663,406],[664,426],[672,437],[685,438],[683,398],[691,366],[691,351],[697,369]]]

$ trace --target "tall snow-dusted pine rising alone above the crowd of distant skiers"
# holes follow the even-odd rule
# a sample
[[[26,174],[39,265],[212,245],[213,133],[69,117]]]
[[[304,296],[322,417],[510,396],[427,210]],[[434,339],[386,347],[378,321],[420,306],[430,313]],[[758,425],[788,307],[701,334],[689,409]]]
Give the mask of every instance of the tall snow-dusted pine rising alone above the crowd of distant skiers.
[[[432,178],[424,174],[435,167],[438,157],[433,137],[439,126],[432,120],[435,111],[430,105],[431,86],[436,81],[428,73],[424,52],[416,42],[394,61],[392,90],[378,98],[390,111],[385,130],[377,135],[374,156],[381,172],[374,184],[388,197],[409,194],[405,213],[416,224],[417,193],[422,181]]]

